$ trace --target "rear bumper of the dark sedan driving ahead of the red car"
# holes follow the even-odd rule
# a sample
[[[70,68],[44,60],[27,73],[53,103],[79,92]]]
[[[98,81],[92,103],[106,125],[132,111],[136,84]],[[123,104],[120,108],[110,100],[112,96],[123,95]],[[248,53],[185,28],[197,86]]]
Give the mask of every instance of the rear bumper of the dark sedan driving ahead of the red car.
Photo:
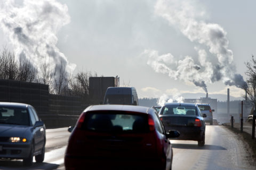
[[[178,138],[171,138],[171,140],[201,140],[203,134],[205,133],[205,128],[203,127],[191,127],[191,126],[170,126],[165,127],[166,132],[169,130],[176,130],[180,132]]]

